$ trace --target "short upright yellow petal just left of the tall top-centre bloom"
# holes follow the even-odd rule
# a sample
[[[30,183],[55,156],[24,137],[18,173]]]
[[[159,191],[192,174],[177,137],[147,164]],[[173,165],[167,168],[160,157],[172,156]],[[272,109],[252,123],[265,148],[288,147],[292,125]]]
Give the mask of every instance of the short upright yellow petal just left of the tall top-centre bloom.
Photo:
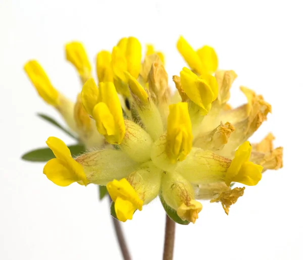
[[[107,50],[97,54],[96,68],[99,82],[113,82],[112,55]]]

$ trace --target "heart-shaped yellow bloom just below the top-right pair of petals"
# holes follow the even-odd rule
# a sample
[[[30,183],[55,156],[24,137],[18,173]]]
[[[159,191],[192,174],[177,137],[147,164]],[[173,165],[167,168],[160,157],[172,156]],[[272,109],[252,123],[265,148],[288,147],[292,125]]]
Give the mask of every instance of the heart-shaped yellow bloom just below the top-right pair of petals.
[[[216,78],[212,75],[198,77],[189,69],[183,68],[180,79],[186,95],[201,108],[201,115],[208,114],[218,95]]]

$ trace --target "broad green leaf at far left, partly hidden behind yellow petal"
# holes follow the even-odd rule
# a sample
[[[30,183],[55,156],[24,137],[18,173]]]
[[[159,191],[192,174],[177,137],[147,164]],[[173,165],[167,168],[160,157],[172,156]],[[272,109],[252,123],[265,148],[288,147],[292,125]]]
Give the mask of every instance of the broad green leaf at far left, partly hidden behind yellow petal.
[[[70,145],[68,148],[70,149],[72,156],[85,151],[85,147],[82,144]],[[23,160],[31,162],[47,162],[53,158],[55,158],[55,155],[48,147],[31,150],[22,156]]]

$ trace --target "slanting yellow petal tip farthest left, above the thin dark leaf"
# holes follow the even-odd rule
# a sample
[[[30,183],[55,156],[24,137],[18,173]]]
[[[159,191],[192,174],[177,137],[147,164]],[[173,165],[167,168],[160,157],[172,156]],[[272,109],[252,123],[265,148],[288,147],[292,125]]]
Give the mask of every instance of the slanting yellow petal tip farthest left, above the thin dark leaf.
[[[43,68],[37,61],[29,61],[24,70],[43,100],[51,106],[59,105],[59,92],[49,81]]]

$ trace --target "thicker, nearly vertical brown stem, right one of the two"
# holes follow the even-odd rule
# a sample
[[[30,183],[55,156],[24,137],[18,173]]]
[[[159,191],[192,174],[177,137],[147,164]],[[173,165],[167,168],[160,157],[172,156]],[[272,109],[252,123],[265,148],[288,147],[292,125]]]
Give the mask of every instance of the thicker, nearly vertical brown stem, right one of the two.
[[[174,256],[176,223],[166,215],[163,260],[172,260]]]

